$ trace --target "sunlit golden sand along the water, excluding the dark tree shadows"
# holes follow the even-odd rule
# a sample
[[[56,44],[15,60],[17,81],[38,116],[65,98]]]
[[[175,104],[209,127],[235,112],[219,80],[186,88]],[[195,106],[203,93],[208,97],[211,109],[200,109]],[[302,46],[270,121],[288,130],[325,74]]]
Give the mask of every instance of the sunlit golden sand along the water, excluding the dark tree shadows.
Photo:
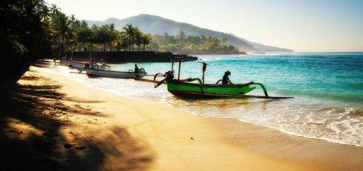
[[[147,170],[363,169],[362,147],[288,135],[237,119],[202,117],[163,103],[124,98],[79,84],[64,75],[47,72],[47,67],[31,66],[30,70],[36,71],[31,73],[34,77],[57,82],[62,87],[61,94],[66,94],[61,101],[68,105],[89,105],[92,113],[104,113],[107,117],[97,119],[107,124],[96,125],[96,129],[121,126],[132,139],[147,144],[150,149],[147,156],[152,159],[141,162]],[[24,83],[29,82],[20,81]],[[77,118],[70,118],[71,122],[77,122]],[[100,136],[107,132],[101,131]],[[114,147],[122,149],[123,144]],[[107,150],[101,148],[101,151]],[[105,156],[110,158],[112,168],[122,168],[117,164],[122,158],[107,153]]]

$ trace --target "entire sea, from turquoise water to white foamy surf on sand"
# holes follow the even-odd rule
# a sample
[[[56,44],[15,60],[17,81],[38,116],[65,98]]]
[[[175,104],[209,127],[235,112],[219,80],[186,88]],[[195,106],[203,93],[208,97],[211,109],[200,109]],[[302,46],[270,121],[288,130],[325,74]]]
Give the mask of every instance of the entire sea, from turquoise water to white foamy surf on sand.
[[[288,53],[200,55],[200,61],[182,63],[181,78],[201,77],[206,62],[206,83],[215,83],[230,70],[235,83],[260,82],[270,96],[256,98],[185,99],[168,93],[165,85],[135,80],[87,77],[64,66],[53,70],[88,86],[119,96],[159,101],[204,117],[237,119],[302,137],[363,146],[363,53]],[[114,64],[128,70],[134,63]],[[165,73],[170,63],[138,63],[148,74]],[[177,70],[177,65],[175,65]],[[74,72],[74,71],[73,71]],[[251,92],[263,95],[258,88]]]

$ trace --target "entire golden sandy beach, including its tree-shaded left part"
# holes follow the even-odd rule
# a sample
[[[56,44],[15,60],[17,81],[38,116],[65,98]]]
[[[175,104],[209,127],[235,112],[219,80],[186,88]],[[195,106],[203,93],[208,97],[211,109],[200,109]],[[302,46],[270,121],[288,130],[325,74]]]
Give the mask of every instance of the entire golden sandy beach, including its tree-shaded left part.
[[[201,117],[158,101],[125,98],[50,72],[50,65],[45,61],[31,66],[23,75],[15,90],[22,98],[9,102],[21,105],[22,110],[9,107],[1,122],[5,125],[2,140],[29,145],[5,143],[3,149],[34,151],[41,157],[23,159],[38,161],[34,168],[363,170],[362,147],[298,137],[235,119]],[[21,112],[28,117],[17,114]],[[40,152],[30,145],[32,140],[42,141]],[[22,153],[15,149],[9,154]],[[13,158],[22,161],[21,156]]]

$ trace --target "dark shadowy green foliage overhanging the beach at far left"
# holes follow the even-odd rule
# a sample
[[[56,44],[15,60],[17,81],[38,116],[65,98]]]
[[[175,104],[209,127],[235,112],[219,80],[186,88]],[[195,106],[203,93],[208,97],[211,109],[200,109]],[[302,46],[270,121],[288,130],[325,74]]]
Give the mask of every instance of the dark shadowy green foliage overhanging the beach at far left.
[[[49,14],[44,1],[1,1],[0,84],[13,84],[29,64],[50,54]],[[5,83],[4,83],[5,84]]]

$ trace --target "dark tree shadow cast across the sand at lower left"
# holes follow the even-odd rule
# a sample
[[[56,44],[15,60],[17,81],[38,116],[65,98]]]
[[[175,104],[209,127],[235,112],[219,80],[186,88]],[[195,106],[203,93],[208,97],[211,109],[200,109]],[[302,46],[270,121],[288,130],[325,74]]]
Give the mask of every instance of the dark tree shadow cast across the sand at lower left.
[[[40,77],[23,79],[36,82]],[[145,170],[151,165],[151,149],[126,128],[86,126],[78,133],[62,133],[78,126],[67,119],[70,114],[90,120],[108,115],[64,105],[61,99],[67,98],[59,88],[17,84],[0,90],[1,170]]]

